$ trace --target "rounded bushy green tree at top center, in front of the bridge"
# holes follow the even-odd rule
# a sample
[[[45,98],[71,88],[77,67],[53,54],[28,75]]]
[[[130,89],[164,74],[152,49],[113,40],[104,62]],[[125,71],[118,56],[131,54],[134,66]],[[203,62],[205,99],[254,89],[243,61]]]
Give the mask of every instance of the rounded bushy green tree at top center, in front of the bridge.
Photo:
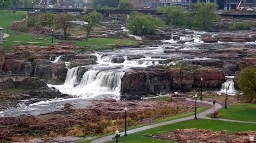
[[[127,29],[134,35],[152,35],[161,24],[162,21],[155,16],[133,12],[128,19]]]

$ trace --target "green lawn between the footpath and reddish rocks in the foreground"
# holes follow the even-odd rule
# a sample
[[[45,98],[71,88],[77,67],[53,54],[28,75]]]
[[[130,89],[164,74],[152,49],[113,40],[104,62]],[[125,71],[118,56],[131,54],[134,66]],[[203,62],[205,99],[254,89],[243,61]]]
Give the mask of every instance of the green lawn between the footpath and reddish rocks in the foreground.
[[[176,129],[187,129],[187,128],[198,128],[204,130],[212,130],[212,131],[221,131],[227,130],[229,134],[232,134],[236,131],[248,131],[254,130],[256,131],[256,124],[246,124],[246,123],[234,123],[234,122],[225,122],[225,121],[217,121],[217,120],[207,120],[207,119],[198,119],[198,120],[188,120],[172,125],[166,125],[157,127],[154,129],[149,129],[145,131],[141,131],[138,133],[129,134],[126,137],[121,137],[120,142],[123,143],[150,143],[152,142],[151,137],[146,137],[148,134],[160,134],[163,132],[170,132]],[[108,141],[108,143],[113,141]],[[155,143],[162,142],[172,142],[169,140],[158,140],[155,139]]]

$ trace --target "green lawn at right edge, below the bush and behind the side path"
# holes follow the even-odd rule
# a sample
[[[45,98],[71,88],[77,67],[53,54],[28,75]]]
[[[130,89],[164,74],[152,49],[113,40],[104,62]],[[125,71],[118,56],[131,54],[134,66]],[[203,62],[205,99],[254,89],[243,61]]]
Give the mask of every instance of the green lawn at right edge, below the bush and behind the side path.
[[[256,122],[256,104],[253,103],[237,103],[219,111],[220,118]]]

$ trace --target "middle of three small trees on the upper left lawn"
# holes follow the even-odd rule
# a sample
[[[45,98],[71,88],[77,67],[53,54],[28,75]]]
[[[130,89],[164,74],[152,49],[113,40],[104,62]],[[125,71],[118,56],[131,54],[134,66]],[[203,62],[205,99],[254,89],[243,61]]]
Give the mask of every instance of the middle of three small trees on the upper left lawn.
[[[61,13],[56,16],[56,20],[55,20],[56,28],[62,28],[62,30],[64,31],[65,40],[67,40],[67,30],[72,26],[72,23],[71,23],[72,20],[73,20],[73,16],[66,13]]]

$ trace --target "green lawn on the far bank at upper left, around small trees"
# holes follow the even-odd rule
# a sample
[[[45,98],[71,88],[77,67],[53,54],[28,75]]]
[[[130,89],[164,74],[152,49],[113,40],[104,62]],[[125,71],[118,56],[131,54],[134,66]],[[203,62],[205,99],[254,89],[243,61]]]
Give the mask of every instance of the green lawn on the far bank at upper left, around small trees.
[[[3,14],[0,15],[0,27],[5,28],[4,33],[10,35],[10,37],[5,38],[4,40],[4,49],[6,52],[11,52],[13,46],[17,45],[26,45],[29,42],[40,42],[40,43],[31,43],[33,45],[49,46],[51,45],[51,36],[33,36],[30,33],[16,33],[9,29],[10,25],[14,21],[22,20],[25,18],[26,11],[7,11],[3,10]],[[43,40],[38,40],[34,38],[42,38]],[[22,42],[13,42],[13,41],[22,41]],[[24,43],[25,42],[25,43]],[[53,41],[53,43],[58,43],[58,40]],[[95,38],[89,39],[88,41],[75,41],[76,46],[86,47],[87,49],[111,49],[110,45],[123,44],[123,45],[138,45],[138,41],[131,41],[129,39],[114,39],[114,38]]]

